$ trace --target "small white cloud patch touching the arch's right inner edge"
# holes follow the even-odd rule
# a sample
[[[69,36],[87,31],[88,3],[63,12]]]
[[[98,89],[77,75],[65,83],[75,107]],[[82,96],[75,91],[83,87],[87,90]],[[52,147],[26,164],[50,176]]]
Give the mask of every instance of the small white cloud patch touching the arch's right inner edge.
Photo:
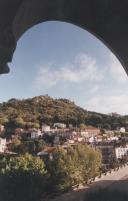
[[[116,59],[114,55],[110,55],[110,65],[109,65],[109,73],[115,80],[119,82],[127,81],[127,74],[120,64],[120,62]]]

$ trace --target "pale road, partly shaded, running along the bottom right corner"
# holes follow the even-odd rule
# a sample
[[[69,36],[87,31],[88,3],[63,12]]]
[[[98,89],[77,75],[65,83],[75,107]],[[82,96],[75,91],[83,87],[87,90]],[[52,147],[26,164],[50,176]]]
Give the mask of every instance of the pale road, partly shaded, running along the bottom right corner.
[[[97,189],[117,189],[123,192],[128,191],[128,166],[120,168],[118,171],[113,171],[111,174],[102,175],[101,178],[97,178],[96,181],[90,186],[81,187],[75,192],[65,193],[55,199],[49,201],[83,201],[85,193],[91,190]]]

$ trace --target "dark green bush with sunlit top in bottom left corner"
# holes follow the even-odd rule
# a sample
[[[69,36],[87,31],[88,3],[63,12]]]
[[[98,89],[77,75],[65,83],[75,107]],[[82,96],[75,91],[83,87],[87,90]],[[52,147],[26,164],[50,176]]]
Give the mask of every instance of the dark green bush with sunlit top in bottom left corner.
[[[0,171],[0,201],[38,201],[45,192],[46,170],[32,155],[4,159]]]

